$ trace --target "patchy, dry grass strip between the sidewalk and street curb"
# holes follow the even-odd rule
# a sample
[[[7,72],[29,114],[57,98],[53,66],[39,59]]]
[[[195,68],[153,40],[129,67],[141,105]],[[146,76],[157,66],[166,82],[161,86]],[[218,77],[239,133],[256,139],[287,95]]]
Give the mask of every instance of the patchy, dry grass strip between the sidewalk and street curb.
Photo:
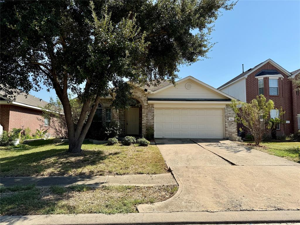
[[[131,213],[136,205],[164,201],[178,187],[103,186],[1,187],[1,215]]]

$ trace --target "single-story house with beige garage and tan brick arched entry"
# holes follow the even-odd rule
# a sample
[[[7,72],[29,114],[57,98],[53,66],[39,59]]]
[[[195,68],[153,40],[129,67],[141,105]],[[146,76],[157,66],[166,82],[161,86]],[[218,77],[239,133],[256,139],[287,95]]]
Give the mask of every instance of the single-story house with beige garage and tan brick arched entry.
[[[155,138],[237,138],[233,97],[192,76],[155,86],[134,85],[137,106],[115,110],[113,96],[101,98],[95,122],[119,121],[122,136],[146,135],[153,128]]]

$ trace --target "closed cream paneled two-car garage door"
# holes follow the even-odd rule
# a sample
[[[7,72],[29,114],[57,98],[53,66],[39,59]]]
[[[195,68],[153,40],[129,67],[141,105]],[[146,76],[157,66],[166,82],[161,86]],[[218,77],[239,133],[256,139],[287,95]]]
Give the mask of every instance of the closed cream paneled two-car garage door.
[[[223,138],[223,109],[155,108],[156,138]]]

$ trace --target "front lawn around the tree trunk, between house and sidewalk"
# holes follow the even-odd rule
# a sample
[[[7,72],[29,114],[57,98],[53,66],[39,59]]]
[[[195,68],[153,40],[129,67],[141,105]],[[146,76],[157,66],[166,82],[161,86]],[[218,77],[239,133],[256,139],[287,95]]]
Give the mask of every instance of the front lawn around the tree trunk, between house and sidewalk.
[[[107,146],[85,142],[80,154],[67,153],[67,143],[35,141],[0,147],[1,177],[101,176],[167,173],[157,146]]]

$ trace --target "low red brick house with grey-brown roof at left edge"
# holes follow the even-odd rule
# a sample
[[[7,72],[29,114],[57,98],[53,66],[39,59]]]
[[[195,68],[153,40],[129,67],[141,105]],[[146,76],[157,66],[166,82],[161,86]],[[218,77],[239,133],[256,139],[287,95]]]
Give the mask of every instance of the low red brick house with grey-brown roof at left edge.
[[[31,129],[32,134],[36,129],[47,129],[47,124],[42,125],[38,119],[44,118],[41,107],[44,107],[48,102],[37,98],[33,95],[25,94],[18,95],[15,101],[3,96],[4,92],[0,92],[0,125],[4,131],[11,131],[12,128],[27,128]],[[45,123],[51,121],[44,121]],[[49,133],[51,131],[49,130]]]

